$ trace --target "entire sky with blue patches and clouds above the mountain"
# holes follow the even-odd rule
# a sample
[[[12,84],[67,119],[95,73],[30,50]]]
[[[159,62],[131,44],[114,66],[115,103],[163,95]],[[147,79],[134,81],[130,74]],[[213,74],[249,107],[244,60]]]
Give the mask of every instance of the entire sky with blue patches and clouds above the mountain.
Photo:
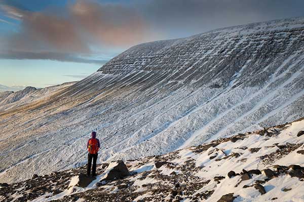
[[[303,0],[0,0],[0,91],[80,80],[128,48],[304,16]]]

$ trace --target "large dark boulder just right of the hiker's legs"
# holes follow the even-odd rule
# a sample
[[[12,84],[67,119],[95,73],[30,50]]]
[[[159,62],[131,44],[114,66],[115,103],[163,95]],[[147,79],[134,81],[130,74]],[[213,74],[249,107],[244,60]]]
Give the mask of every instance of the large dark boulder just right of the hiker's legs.
[[[112,167],[105,178],[103,180],[113,180],[113,179],[123,179],[124,177],[129,176],[129,170],[127,169],[127,166],[125,165],[124,161],[118,160],[112,162],[113,164],[117,164],[116,166]],[[109,165],[111,166],[111,165]]]

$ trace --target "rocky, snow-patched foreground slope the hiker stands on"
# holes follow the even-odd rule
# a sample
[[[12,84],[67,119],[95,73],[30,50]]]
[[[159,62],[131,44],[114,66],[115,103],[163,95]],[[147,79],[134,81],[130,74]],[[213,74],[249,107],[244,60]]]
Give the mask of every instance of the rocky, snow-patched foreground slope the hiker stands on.
[[[1,201],[304,201],[304,118],[165,155],[0,184]]]

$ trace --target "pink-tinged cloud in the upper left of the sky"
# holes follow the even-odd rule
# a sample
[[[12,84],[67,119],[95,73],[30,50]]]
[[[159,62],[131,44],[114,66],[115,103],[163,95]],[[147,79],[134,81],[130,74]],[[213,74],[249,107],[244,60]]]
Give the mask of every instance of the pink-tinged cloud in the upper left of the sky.
[[[5,38],[0,53],[34,58],[40,53],[96,54],[100,49],[125,49],[151,41],[155,34],[135,8],[77,1],[64,13],[55,10],[30,12],[0,5],[7,17],[20,21],[20,31]],[[97,51],[98,52],[98,51]],[[33,55],[32,57],[30,55]],[[1,56],[1,55],[0,55]],[[45,54],[43,55],[45,59]]]

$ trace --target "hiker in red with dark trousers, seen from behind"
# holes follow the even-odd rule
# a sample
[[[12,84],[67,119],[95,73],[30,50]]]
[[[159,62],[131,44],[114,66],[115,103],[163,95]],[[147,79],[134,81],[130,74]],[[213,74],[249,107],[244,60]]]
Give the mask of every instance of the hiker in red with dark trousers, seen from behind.
[[[100,147],[99,140],[96,138],[96,132],[93,131],[91,133],[91,137],[88,140],[87,148],[88,148],[88,166],[87,166],[87,176],[90,176],[91,172],[91,165],[92,165],[92,159],[93,159],[93,167],[92,167],[92,176],[96,176],[96,161],[98,156],[98,149]]]

